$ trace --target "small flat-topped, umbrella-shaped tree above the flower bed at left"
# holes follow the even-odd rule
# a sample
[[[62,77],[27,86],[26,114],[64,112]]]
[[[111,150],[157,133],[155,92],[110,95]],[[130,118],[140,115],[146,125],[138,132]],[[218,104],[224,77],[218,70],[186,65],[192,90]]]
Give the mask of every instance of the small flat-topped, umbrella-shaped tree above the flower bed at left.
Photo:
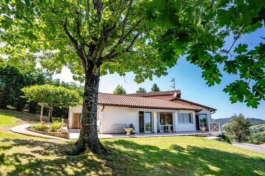
[[[21,91],[24,93],[22,97],[28,99],[28,102],[44,103],[50,107],[49,122],[52,122],[52,110],[55,106],[59,108],[76,106],[81,104],[82,100],[74,90],[49,84],[31,85],[24,87]]]

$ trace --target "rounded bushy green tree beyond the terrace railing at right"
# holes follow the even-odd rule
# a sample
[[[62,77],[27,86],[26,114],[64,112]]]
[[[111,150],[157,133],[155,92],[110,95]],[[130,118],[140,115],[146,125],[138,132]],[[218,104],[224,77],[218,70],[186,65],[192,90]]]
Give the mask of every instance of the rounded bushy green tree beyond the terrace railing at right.
[[[250,137],[250,126],[250,119],[245,119],[245,116],[240,113],[239,115],[234,114],[231,116],[229,124],[224,125],[223,128],[229,137],[237,142],[242,142]]]

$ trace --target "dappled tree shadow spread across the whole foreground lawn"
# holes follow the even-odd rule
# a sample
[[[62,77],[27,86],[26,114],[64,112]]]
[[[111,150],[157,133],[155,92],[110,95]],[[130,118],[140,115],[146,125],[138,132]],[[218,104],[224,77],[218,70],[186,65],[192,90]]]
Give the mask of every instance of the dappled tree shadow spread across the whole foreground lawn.
[[[216,149],[171,145],[160,149],[130,140],[103,141],[108,156],[91,153],[66,156],[72,143],[4,139],[0,168],[8,175],[264,175],[265,162],[258,158]],[[5,145],[8,144],[8,145]],[[9,146],[12,146],[10,148]],[[4,147],[5,149],[5,147]],[[1,174],[1,171],[0,171]]]

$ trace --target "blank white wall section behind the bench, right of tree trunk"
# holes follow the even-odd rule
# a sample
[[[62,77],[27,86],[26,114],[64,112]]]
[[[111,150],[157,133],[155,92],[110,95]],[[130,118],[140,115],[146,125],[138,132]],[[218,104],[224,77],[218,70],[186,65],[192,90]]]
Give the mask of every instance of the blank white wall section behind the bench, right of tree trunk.
[[[139,132],[139,112],[128,107],[105,106],[102,111],[102,133],[115,133],[114,124],[134,124]]]

